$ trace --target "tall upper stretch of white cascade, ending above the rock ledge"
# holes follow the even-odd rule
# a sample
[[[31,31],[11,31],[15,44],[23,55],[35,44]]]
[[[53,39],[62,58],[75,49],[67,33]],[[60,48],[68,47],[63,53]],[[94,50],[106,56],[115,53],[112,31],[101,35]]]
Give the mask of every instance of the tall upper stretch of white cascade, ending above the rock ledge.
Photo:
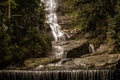
[[[63,33],[60,30],[61,26],[57,22],[57,1],[42,0],[42,2],[45,4],[45,10],[48,12],[48,14],[46,14],[46,22],[50,25],[55,41],[58,41],[60,38],[62,38]]]

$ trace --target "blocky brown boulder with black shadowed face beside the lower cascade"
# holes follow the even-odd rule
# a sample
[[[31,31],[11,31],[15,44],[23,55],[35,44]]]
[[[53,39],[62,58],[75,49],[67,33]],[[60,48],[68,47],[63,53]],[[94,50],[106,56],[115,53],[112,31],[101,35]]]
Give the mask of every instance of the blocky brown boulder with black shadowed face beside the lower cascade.
[[[52,44],[63,48],[64,58],[79,58],[82,55],[89,54],[89,43],[86,39],[53,42]]]

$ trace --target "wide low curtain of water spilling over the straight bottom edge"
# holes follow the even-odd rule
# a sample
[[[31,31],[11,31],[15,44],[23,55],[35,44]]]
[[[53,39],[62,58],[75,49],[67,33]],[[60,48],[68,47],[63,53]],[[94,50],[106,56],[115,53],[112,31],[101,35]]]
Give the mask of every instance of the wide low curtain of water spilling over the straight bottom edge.
[[[114,70],[0,71],[0,80],[120,80]]]

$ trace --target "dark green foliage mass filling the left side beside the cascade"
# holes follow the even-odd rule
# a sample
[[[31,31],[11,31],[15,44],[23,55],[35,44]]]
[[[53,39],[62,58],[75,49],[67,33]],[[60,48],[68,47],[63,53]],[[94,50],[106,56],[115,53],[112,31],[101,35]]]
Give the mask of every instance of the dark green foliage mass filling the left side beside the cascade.
[[[51,41],[40,0],[11,0],[10,19],[5,5],[0,1],[0,65],[47,56]]]

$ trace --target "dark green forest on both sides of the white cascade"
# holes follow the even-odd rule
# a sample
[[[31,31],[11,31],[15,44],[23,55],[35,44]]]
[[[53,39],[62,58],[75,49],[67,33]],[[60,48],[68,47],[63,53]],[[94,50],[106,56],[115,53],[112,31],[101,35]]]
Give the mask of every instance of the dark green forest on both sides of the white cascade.
[[[120,53],[120,0],[58,0],[58,13],[68,21],[66,29],[79,35],[91,33],[90,43],[114,46]],[[0,0],[0,67],[23,63],[50,54],[51,34],[40,0]]]

